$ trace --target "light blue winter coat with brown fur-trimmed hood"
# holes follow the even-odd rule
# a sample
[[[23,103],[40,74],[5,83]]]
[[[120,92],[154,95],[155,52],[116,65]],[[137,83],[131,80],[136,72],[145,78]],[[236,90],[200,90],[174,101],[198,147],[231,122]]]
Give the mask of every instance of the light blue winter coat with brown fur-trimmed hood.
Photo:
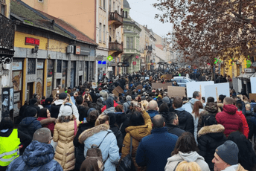
[[[108,135],[106,135],[109,132]],[[99,146],[104,164],[104,171],[115,171],[115,164],[120,159],[118,144],[115,135],[109,130],[109,125],[103,123],[92,129],[87,129],[78,138],[80,143],[84,143],[84,156],[93,144]],[[101,143],[101,144],[100,144]]]

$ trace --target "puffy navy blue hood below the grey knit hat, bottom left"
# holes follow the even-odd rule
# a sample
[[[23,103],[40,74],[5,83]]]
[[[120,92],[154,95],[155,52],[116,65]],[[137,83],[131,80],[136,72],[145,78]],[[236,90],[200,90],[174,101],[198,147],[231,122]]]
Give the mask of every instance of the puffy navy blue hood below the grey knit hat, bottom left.
[[[25,149],[22,159],[30,167],[39,167],[54,159],[54,147],[48,143],[32,141]]]

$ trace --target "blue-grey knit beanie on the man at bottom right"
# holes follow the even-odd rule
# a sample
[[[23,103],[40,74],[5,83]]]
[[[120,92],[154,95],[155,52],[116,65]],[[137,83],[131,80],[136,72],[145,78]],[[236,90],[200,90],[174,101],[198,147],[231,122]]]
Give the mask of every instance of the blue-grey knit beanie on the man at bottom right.
[[[221,159],[223,159],[223,161],[225,161],[225,163],[230,165],[238,164],[239,149],[237,144],[233,141],[225,141],[223,145],[217,147],[215,152],[220,156]]]

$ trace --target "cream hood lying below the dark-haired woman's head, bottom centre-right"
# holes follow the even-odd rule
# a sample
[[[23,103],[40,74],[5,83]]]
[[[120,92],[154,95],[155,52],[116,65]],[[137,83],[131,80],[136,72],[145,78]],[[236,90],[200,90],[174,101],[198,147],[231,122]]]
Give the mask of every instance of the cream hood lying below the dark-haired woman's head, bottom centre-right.
[[[173,155],[172,157],[168,158],[167,161],[188,161],[188,162],[193,162],[196,161],[197,159],[201,159],[205,161],[205,159],[199,155],[197,152],[190,152],[190,153],[183,153],[179,152],[177,155]]]

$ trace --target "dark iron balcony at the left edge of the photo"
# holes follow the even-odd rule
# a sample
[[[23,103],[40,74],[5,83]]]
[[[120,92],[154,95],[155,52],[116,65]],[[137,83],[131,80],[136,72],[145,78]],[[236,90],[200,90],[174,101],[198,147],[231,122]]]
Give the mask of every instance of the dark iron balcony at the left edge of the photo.
[[[12,62],[15,25],[0,13],[0,63]]]

